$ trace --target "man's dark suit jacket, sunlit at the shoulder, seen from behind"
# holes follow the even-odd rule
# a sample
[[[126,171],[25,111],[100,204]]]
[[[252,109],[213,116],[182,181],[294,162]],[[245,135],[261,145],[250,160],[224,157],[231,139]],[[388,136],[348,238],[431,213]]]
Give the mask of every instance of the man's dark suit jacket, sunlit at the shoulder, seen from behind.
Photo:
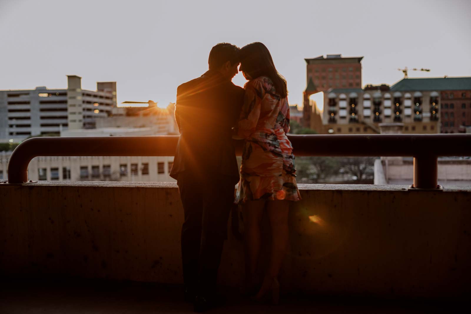
[[[217,71],[209,70],[178,87],[175,119],[180,138],[171,177],[178,180],[179,173],[191,171],[202,179],[222,174],[234,185],[238,182],[231,137],[243,101],[244,89]]]

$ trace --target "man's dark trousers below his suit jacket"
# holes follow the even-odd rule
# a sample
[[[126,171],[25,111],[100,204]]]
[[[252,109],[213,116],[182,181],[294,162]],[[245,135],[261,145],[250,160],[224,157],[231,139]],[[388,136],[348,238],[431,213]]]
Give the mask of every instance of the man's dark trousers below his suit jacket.
[[[178,186],[185,213],[181,231],[183,280],[197,294],[213,295],[227,220],[234,202],[234,180],[214,173],[179,174]]]

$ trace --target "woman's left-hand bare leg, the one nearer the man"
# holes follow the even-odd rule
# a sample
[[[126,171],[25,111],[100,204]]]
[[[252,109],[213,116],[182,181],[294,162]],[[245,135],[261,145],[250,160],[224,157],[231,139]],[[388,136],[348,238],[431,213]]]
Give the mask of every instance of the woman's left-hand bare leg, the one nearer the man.
[[[255,273],[260,254],[260,224],[265,209],[265,200],[247,201],[242,209],[244,215],[245,288],[255,284]],[[247,291],[249,292],[249,291]]]

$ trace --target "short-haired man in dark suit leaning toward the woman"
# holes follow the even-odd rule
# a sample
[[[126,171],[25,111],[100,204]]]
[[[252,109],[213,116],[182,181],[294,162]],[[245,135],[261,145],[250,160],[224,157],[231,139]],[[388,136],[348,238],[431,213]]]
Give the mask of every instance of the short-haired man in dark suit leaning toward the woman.
[[[171,177],[177,179],[185,213],[181,253],[185,299],[195,312],[214,306],[216,279],[227,220],[239,180],[232,127],[244,89],[235,86],[239,48],[219,43],[211,49],[209,70],[177,89],[175,119],[180,138]]]

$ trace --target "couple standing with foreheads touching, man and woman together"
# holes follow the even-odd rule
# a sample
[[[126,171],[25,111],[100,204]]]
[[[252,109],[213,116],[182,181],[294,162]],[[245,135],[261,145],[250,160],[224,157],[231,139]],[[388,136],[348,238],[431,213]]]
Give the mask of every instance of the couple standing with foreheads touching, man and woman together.
[[[260,42],[243,48],[219,43],[211,49],[208,64],[201,77],[178,87],[175,106],[180,137],[170,175],[177,180],[185,216],[181,231],[185,299],[194,303],[195,312],[218,304],[218,268],[227,220],[236,203],[244,218],[245,293],[276,304],[277,276],[288,244],[289,205],[300,200],[292,145],[286,137],[290,128],[286,81]],[[244,89],[232,83],[238,71],[248,80]],[[240,171],[233,138],[244,141]],[[259,276],[265,210],[271,255]]]

